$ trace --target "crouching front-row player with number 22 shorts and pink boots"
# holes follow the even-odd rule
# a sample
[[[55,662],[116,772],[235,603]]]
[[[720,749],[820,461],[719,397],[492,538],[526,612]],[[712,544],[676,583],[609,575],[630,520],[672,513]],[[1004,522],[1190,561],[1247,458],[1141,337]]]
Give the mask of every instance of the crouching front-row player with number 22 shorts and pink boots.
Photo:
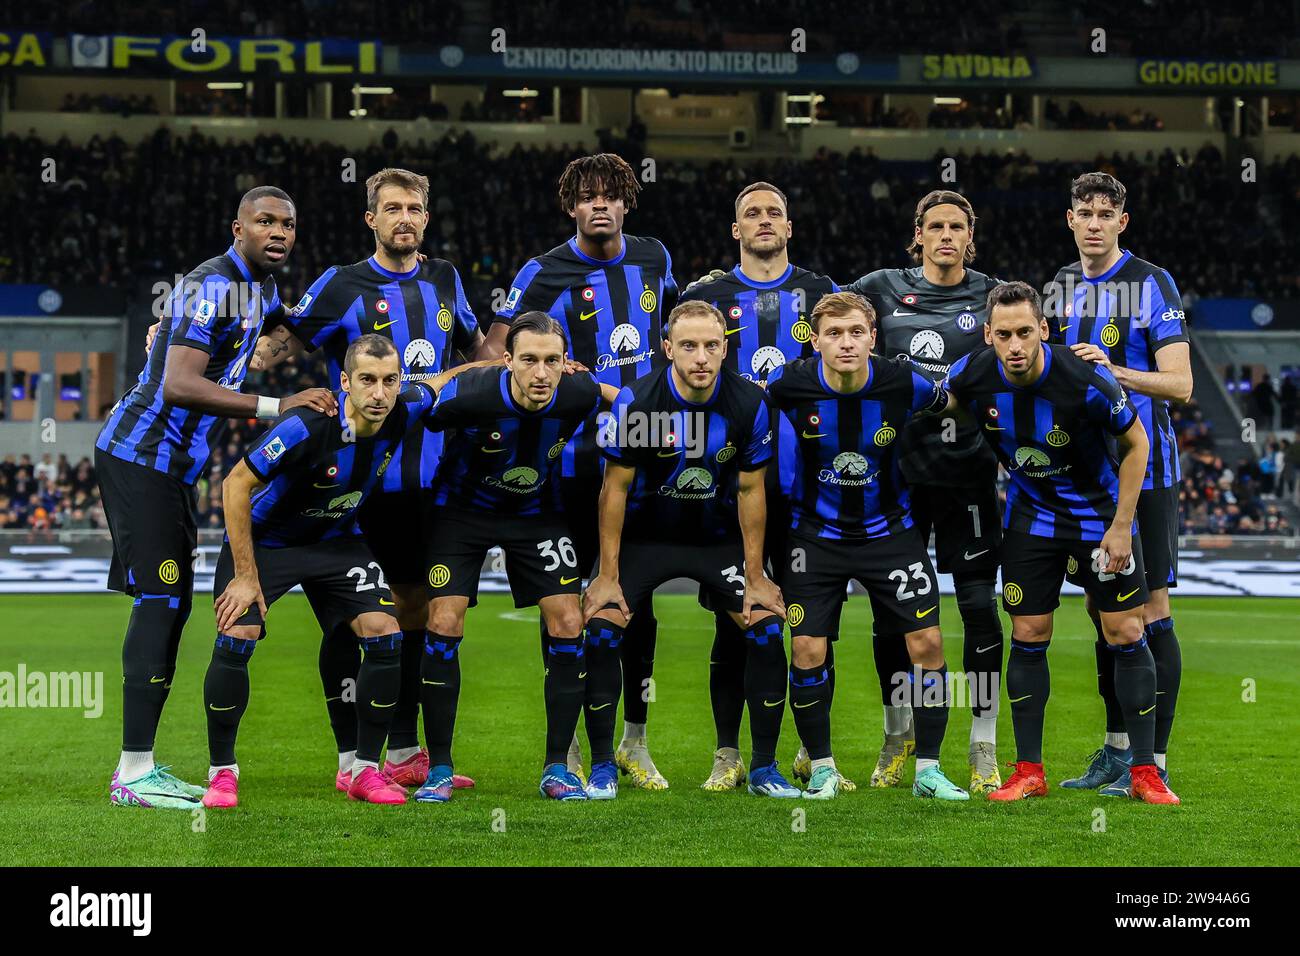
[[[460,371],[403,392],[393,342],[361,336],[347,350],[337,419],[294,408],[250,449],[222,485],[226,542],[214,579],[217,640],[203,683],[211,769],[203,805],[238,804],[235,736],[248,708],[248,661],[266,609],[300,584],[321,627],[347,622],[364,657],[356,678],[358,747],[348,796],[403,804],[378,770],[400,679],[402,628],[393,594],[356,527],[403,437],[425,424]]]

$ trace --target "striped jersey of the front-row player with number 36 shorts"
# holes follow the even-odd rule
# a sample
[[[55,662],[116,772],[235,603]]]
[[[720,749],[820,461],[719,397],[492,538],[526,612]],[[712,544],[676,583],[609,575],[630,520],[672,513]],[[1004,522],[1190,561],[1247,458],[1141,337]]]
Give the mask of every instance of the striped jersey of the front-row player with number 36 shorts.
[[[562,376],[537,411],[515,401],[507,369],[462,372],[442,389],[428,423],[456,429],[433,479],[434,503],[499,515],[559,511],[560,453],[599,402],[588,372]]]

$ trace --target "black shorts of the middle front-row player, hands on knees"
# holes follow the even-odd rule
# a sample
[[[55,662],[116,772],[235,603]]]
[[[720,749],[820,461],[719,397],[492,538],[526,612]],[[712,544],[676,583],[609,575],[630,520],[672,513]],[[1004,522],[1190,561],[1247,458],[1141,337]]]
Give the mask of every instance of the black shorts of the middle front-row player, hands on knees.
[[[711,610],[738,614],[745,607],[745,546],[738,537],[699,544],[623,538],[619,584],[628,607],[636,610],[673,578],[696,581]]]

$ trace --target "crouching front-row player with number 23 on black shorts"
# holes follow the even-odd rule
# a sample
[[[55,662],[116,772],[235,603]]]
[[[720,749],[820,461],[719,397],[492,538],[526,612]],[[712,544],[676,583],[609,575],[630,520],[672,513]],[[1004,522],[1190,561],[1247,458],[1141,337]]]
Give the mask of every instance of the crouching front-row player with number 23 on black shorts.
[[[894,689],[906,695],[897,702],[913,706],[916,723],[913,793],[968,800],[939,767],[949,710],[939,591],[913,525],[897,441],[914,414],[944,411],[948,394],[910,363],[871,355],[875,319],[855,293],[823,297],[811,315],[820,358],[789,363],[767,380],[780,411],[781,486],[792,512],[774,564],[789,602],[790,706],[811,758],[803,796],[829,800],[842,788],[831,753],[827,639],[838,631],[845,587],[857,579],[871,596],[878,630],[888,624],[906,636],[911,670],[896,676]]]

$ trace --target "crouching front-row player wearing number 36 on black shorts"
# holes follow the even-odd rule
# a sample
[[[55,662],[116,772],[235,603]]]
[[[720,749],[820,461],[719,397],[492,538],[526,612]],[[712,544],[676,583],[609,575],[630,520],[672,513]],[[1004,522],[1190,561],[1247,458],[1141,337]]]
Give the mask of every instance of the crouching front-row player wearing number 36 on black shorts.
[[[566,766],[582,711],[586,674],[582,575],[560,506],[560,453],[582,421],[618,395],[589,372],[566,373],[564,326],[545,312],[524,312],[506,334],[506,368],[478,368],[447,385],[429,418],[433,431],[456,429],[433,476],[429,553],[429,635],[420,704],[429,775],[415,799],[452,795],[451,739],[460,697],[459,648],[465,611],[477,601],[489,549],[506,555],[516,607],[537,605],[546,622],[546,760],[541,791],[585,800]]]

